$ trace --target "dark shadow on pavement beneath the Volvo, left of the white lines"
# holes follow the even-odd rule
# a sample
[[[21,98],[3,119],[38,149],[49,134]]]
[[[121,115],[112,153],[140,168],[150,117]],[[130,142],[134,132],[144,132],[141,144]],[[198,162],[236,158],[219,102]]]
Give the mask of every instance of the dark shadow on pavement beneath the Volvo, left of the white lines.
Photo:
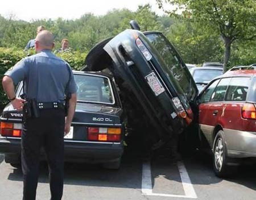
[[[142,161],[124,157],[119,170],[103,169],[97,164],[65,163],[64,184],[110,188],[141,189]],[[8,180],[22,181],[21,169],[13,169]],[[48,183],[47,163],[40,164],[39,182]]]

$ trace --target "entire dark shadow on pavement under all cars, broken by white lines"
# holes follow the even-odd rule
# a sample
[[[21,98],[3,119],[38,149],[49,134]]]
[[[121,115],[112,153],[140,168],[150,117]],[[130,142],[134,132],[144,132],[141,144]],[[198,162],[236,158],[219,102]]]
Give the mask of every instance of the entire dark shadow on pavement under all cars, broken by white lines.
[[[182,158],[193,185],[214,185],[222,182],[223,179],[216,177],[213,173],[210,155],[196,151],[187,156],[183,155]],[[0,159],[2,162],[3,157],[0,156]],[[102,169],[100,165],[96,164],[65,163],[64,184],[141,189],[142,163],[143,159],[134,155],[125,155],[119,170]],[[11,169],[10,172],[8,177],[10,181],[22,181],[22,171],[20,169]],[[151,156],[151,176],[153,188],[155,184],[156,188],[160,186],[157,182],[159,181],[158,178],[172,183],[181,183],[177,164],[166,152],[157,152]],[[232,178],[225,180],[256,190],[255,165],[243,165],[237,173],[233,174]],[[40,165],[39,182],[48,183],[46,162]],[[166,183],[168,184],[168,182]]]

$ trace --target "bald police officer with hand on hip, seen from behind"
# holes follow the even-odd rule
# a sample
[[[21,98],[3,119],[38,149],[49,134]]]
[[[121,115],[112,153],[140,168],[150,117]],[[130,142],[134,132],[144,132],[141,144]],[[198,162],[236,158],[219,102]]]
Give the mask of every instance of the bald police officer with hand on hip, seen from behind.
[[[41,31],[35,39],[37,54],[19,61],[2,80],[14,109],[22,110],[28,106],[26,102],[36,102],[31,115],[27,114],[28,107],[23,109],[23,200],[36,199],[41,147],[49,165],[51,199],[58,200],[63,195],[64,132],[69,132],[75,113],[77,86],[68,63],[51,52],[53,46],[51,32]],[[15,97],[14,85],[20,81],[24,82],[26,102]],[[71,98],[65,118],[63,101],[68,93]]]

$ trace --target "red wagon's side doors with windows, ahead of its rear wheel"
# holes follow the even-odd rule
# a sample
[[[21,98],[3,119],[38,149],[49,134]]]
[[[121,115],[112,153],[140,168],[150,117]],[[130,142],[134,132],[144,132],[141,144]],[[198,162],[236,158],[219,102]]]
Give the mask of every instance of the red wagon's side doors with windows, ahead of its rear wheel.
[[[213,144],[214,127],[220,122],[224,98],[231,78],[216,80],[201,94],[199,105],[199,127],[210,147]]]

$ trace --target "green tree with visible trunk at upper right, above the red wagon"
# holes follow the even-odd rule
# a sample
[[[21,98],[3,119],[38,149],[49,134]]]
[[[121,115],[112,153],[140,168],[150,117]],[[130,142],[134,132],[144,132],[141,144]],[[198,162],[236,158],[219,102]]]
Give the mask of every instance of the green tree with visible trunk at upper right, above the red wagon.
[[[156,0],[163,7],[162,0]],[[183,17],[205,23],[217,30],[224,42],[224,70],[230,60],[232,43],[256,38],[255,0],[166,0],[183,10]],[[176,9],[171,13],[177,15]]]

